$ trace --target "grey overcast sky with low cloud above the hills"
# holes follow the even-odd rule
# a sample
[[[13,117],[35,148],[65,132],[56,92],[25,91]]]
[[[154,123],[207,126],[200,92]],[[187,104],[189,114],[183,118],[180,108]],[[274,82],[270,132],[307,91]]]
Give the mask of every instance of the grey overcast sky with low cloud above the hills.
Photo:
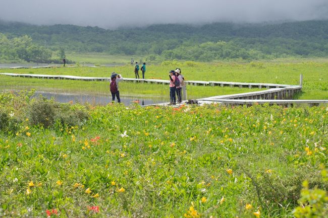
[[[0,0],[0,19],[117,28],[328,19],[328,0]]]

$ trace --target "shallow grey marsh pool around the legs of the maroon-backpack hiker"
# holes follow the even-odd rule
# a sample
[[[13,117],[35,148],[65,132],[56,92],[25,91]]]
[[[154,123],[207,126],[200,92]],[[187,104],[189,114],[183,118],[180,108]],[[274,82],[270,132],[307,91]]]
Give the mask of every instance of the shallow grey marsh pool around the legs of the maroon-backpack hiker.
[[[51,92],[35,92],[33,97],[38,97],[42,95],[47,99],[53,98],[54,101],[61,102],[61,103],[80,103],[85,104],[89,103],[91,105],[106,105],[112,102],[112,96],[109,95],[90,95],[90,94],[72,94],[72,93],[51,93]],[[156,104],[156,103],[163,103],[168,102],[167,99],[164,98],[144,98],[144,97],[127,97],[127,96],[120,96],[121,103],[124,105],[130,105],[133,103],[138,103],[139,105],[149,105],[149,104]],[[169,100],[170,101],[170,100]],[[117,99],[115,99],[117,102]]]

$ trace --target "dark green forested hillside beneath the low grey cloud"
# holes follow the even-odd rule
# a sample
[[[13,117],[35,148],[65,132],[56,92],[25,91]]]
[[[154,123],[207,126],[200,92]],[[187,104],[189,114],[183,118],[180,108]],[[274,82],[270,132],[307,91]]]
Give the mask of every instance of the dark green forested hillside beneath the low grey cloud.
[[[117,30],[0,22],[0,33],[9,40],[28,35],[33,43],[51,50],[64,48],[75,52],[138,54],[148,56],[148,60],[328,56],[328,21],[243,25],[213,23],[202,26],[166,24]]]

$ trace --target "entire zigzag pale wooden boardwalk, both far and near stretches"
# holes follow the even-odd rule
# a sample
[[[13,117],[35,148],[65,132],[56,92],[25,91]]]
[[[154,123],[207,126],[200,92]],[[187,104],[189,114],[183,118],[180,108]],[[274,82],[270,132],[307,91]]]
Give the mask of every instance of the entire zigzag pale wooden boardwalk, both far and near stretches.
[[[45,68],[52,66],[42,66],[34,68]],[[16,67],[18,68],[18,67]],[[37,79],[54,79],[54,80],[82,80],[82,81],[110,81],[106,77],[78,77],[69,75],[37,75],[37,74],[12,74],[0,73],[0,75],[24,78],[37,78]],[[161,84],[168,85],[168,80],[144,80],[134,78],[124,78],[125,82],[131,83],[148,83],[148,84]],[[269,104],[269,105],[284,105],[294,106],[299,104],[307,104],[309,106],[316,106],[319,104],[327,104],[328,100],[293,100],[296,93],[300,92],[302,86],[298,85],[285,85],[285,84],[270,84],[270,83],[238,83],[238,82],[216,82],[216,81],[185,81],[187,85],[192,86],[221,86],[221,87],[239,87],[239,88],[266,88],[267,90],[247,92],[233,95],[212,96],[208,98],[197,99],[199,104],[220,103],[226,105],[253,105],[253,104]],[[301,84],[301,81],[300,81]],[[184,102],[183,104],[185,104]],[[154,105],[167,106],[169,103],[161,103]],[[149,105],[146,105],[149,106]],[[179,104],[177,105],[179,106]]]

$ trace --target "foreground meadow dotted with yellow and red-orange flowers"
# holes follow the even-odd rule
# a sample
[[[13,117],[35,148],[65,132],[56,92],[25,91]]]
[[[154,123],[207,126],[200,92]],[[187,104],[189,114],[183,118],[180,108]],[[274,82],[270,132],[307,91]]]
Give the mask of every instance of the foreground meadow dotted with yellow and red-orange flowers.
[[[1,217],[325,217],[328,108],[0,94]]]

